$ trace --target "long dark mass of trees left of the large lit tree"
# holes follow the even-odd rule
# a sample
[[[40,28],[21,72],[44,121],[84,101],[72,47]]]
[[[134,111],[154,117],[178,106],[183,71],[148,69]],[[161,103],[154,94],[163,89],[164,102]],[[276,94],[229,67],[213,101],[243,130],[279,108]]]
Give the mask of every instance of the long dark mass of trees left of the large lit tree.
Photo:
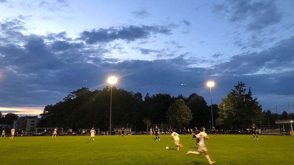
[[[100,130],[109,130],[111,89],[106,86],[102,90],[90,91],[82,87],[70,92],[63,101],[55,105],[45,106],[40,114],[38,127],[70,127],[91,128],[92,125]],[[178,101],[178,102],[177,102]],[[174,104],[174,105],[173,105]],[[177,104],[180,104],[177,106]],[[182,105],[181,105],[182,104]],[[179,118],[178,111],[187,106],[187,116]],[[171,108],[173,105],[174,108]],[[180,107],[180,108],[179,108]],[[167,114],[168,110],[178,108],[177,112]],[[217,118],[217,105],[213,105],[213,117]],[[191,118],[189,117],[189,114]],[[171,118],[177,118],[172,122]],[[187,119],[186,119],[187,118]],[[111,123],[136,125],[139,130],[146,130],[146,120],[149,123],[173,123],[174,127],[204,126],[209,128],[211,108],[203,97],[191,94],[189,97],[170,94],[134,93],[112,87]],[[144,121],[143,121],[144,120]],[[185,120],[185,121],[184,121]]]

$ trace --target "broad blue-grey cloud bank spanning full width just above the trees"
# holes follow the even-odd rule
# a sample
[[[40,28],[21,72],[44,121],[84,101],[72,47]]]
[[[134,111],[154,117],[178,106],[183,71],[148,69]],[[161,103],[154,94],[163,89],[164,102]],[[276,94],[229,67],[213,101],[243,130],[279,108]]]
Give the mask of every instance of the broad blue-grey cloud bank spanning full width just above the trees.
[[[0,24],[2,106],[9,106],[11,102],[22,105],[55,104],[83,86],[101,90],[107,85],[105,79],[110,74],[119,77],[118,88],[141,92],[143,96],[147,92],[169,93],[172,96],[197,93],[209,100],[209,89],[205,86],[208,79],[216,81],[214,103],[226,97],[238,81],[251,86],[254,97],[266,95],[267,98],[262,100],[264,104],[273,105],[269,100],[276,96],[293,96],[294,37],[279,41],[260,52],[232,56],[225,62],[194,57],[189,52],[180,54],[169,49],[142,47],[135,49],[142,54],[154,53],[156,57],[168,59],[120,61],[109,54],[112,50],[123,48],[109,42],[116,39],[144,41],[153,34],[171,33],[160,33],[160,26],[133,26],[87,31],[85,36],[81,34],[81,39],[73,40],[67,38],[65,32],[49,33],[47,36],[24,35],[21,33],[24,25],[18,20]],[[104,31],[107,33],[104,34]],[[134,34],[129,34],[131,32]],[[94,37],[96,33],[103,35]],[[255,39],[259,41],[258,37]],[[92,45],[96,42],[103,44]],[[178,46],[175,40],[164,43]],[[104,56],[106,53],[107,57]],[[220,57],[221,53],[213,56]],[[205,64],[210,67],[203,67]],[[187,85],[181,86],[182,83]]]

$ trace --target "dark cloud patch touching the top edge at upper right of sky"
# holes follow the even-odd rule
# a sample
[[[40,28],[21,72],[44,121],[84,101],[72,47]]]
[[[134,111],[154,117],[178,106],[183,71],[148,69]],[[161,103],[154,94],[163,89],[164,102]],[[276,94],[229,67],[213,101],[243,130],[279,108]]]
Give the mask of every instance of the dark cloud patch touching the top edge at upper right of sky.
[[[261,30],[277,24],[283,17],[283,13],[277,8],[275,1],[229,0],[222,5],[215,5],[213,12],[218,16],[227,17],[231,22],[248,21],[247,30],[249,31]]]

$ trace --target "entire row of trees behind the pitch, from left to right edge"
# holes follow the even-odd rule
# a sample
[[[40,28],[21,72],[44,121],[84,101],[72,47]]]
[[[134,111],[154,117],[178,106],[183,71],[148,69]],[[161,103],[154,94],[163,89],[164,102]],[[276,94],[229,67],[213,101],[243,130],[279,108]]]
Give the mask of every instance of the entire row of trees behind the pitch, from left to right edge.
[[[38,127],[70,127],[91,128],[92,125],[100,127],[100,130],[109,130],[111,89],[106,86],[102,90],[90,91],[82,87],[70,92],[63,101],[55,105],[45,106],[40,114],[41,121]],[[277,117],[280,120],[289,119],[288,113],[281,115],[269,110],[262,112],[257,98],[252,97],[252,91],[248,91],[243,82],[238,82],[229,91],[227,97],[221,98],[219,105],[213,104],[213,121],[217,129],[245,130],[250,128],[253,117],[269,123],[271,128]],[[174,128],[209,128],[211,106],[202,96],[190,94],[189,97],[170,94],[147,93],[143,99],[141,93],[134,93],[112,87],[111,123],[114,125],[136,125],[138,130],[146,130],[151,124],[169,123]],[[290,114],[294,117],[293,113]],[[292,117],[292,118],[293,118]],[[0,112],[0,123],[13,123],[17,119],[14,113],[3,116]],[[257,123],[258,123],[257,119]],[[266,126],[265,126],[266,127]]]

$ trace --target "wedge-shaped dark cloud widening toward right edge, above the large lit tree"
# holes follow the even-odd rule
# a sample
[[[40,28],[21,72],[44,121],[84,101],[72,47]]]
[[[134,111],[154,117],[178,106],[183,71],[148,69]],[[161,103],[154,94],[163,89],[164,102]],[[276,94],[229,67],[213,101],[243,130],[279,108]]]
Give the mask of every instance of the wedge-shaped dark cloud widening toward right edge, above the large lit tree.
[[[218,72],[228,71],[233,75],[250,75],[292,70],[294,60],[294,37],[282,40],[260,53],[242,53],[231,57],[229,62],[214,66]]]

